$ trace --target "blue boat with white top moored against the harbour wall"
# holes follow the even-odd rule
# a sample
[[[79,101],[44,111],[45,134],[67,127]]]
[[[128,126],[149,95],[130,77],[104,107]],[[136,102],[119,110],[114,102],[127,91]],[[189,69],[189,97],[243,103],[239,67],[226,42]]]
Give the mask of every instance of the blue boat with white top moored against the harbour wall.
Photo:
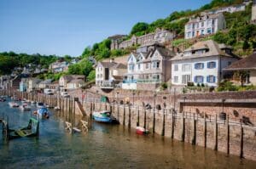
[[[98,121],[98,122],[112,123],[116,121],[116,118],[113,115],[111,115],[111,112],[108,110],[93,112],[92,117],[95,121]]]

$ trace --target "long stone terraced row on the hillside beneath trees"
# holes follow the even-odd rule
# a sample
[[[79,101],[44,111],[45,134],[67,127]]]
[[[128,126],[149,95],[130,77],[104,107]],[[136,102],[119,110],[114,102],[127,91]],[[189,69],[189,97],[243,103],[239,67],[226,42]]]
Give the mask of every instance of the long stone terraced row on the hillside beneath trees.
[[[131,37],[130,40],[123,41],[125,36],[117,35],[113,37],[108,37],[111,39],[111,50],[113,49],[124,49],[134,45],[147,46],[154,44],[155,42],[165,43],[170,42],[175,37],[175,34],[171,31],[164,29],[156,29],[152,33],[148,33],[141,37],[136,37],[135,35]]]

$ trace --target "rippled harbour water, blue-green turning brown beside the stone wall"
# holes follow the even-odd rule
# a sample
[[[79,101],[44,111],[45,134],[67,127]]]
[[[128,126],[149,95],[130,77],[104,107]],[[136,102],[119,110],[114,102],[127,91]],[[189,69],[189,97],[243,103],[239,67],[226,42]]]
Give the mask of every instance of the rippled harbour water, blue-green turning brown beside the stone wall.
[[[31,116],[0,102],[0,118],[3,114],[12,128],[26,126]],[[38,139],[2,143],[1,130],[0,168],[256,168],[256,161],[152,134],[139,136],[119,125],[94,122],[88,133],[71,135],[54,112],[40,120]]]

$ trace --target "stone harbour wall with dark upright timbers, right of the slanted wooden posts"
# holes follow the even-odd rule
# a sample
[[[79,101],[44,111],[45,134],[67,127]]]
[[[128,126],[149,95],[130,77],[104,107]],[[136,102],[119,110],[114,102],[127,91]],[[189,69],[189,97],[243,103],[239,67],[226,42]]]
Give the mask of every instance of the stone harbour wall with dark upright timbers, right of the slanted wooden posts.
[[[170,109],[146,110],[140,106],[84,102],[88,115],[93,111],[111,110],[120,125],[147,128],[151,134],[160,134],[182,142],[215,149],[227,155],[237,155],[256,161],[256,127],[238,121],[219,120],[218,115],[206,118],[195,113],[177,113]]]

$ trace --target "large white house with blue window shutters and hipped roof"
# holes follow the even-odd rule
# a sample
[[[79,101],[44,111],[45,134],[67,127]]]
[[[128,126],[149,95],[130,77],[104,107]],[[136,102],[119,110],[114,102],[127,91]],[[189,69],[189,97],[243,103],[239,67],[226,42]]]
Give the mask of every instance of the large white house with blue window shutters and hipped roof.
[[[224,68],[240,59],[232,48],[212,40],[196,42],[172,60],[172,85],[185,86],[188,82],[217,87],[228,74]]]

